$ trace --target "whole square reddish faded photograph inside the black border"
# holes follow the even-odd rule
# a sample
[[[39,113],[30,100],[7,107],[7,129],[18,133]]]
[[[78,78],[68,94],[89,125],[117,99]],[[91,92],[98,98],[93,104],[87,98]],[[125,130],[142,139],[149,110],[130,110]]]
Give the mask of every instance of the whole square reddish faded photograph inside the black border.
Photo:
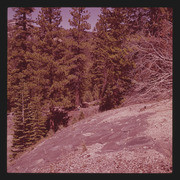
[[[172,173],[173,9],[9,7],[8,173]]]

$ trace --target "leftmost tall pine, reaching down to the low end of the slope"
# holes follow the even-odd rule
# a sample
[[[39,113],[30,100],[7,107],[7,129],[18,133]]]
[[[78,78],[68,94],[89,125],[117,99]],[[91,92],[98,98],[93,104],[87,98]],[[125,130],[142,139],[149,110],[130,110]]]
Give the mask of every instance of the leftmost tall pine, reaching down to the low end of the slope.
[[[18,152],[22,152],[27,147],[30,129],[28,124],[33,123],[32,112],[29,108],[30,90],[28,71],[28,53],[32,52],[32,20],[33,8],[14,8],[15,26],[13,37],[10,40],[8,63],[12,66],[12,71],[8,69],[8,84],[14,101],[14,135],[12,152],[13,157]]]

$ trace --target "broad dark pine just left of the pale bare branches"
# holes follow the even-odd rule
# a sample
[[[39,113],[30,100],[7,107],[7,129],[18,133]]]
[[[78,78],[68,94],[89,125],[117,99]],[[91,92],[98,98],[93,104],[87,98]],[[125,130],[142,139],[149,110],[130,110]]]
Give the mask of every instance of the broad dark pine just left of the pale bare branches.
[[[128,71],[133,65],[126,58],[128,48],[123,47],[128,28],[123,23],[125,11],[102,8],[101,12],[96,25],[92,83],[99,89],[100,110],[108,110],[121,104],[131,84]]]

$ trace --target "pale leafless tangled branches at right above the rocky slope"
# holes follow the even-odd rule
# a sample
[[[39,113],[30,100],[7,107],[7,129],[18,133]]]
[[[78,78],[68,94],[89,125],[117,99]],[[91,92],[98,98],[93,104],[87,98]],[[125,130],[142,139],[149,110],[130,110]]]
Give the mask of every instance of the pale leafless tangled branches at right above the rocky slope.
[[[126,44],[131,48],[128,56],[135,63],[131,76],[138,101],[172,96],[172,23],[165,20],[162,26],[158,37],[141,32]]]

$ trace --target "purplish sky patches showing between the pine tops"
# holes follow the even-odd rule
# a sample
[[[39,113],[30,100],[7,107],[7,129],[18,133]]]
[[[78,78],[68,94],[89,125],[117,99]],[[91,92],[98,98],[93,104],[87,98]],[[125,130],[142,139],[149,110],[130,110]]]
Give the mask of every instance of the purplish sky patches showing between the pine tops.
[[[35,8],[35,11],[32,13],[32,19],[35,20],[37,18],[39,10],[40,8]],[[71,18],[71,15],[69,13],[70,10],[71,10],[70,7],[61,8],[61,15],[62,15],[61,26],[65,29],[72,28],[68,22],[68,20]],[[97,19],[99,18],[98,15],[100,14],[100,8],[92,7],[92,8],[86,8],[86,10],[90,12],[90,18],[87,21],[88,23],[91,24],[90,31],[92,31],[95,27]],[[12,10],[12,8],[8,8],[8,20],[13,19],[13,16],[14,16],[14,11]]]

